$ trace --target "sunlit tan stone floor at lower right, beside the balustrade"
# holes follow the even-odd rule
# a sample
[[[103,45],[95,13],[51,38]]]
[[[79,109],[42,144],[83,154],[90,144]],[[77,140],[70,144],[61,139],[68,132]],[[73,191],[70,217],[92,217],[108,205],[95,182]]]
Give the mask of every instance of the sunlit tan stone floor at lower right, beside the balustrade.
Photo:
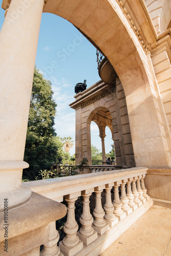
[[[171,209],[153,205],[99,256],[171,256]]]

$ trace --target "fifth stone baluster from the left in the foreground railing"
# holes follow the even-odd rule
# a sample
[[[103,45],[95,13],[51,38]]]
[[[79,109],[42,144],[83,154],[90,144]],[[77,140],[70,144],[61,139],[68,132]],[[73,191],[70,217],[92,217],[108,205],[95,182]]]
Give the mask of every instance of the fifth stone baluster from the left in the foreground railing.
[[[104,204],[104,210],[105,215],[104,219],[106,223],[110,225],[110,227],[113,227],[118,223],[118,218],[114,215],[114,206],[112,204],[111,199],[111,189],[114,183],[106,184],[105,185],[105,204]]]

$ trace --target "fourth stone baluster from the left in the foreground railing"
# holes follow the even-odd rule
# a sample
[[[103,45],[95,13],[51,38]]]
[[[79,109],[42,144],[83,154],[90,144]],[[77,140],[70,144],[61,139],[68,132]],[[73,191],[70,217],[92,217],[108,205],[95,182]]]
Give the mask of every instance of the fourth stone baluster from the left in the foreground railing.
[[[109,230],[109,224],[106,224],[104,220],[104,210],[101,206],[101,193],[103,189],[105,188],[104,185],[95,187],[95,199],[96,199],[96,207],[93,211],[94,215],[94,222],[93,222],[93,228],[100,234],[104,234],[106,231]]]

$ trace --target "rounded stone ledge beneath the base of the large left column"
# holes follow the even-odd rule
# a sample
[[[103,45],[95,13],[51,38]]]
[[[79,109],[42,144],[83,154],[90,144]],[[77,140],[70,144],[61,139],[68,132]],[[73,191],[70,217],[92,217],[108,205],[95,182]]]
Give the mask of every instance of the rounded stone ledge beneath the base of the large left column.
[[[9,237],[20,236],[67,214],[65,205],[32,192],[30,199],[17,207],[8,209]],[[0,241],[4,241],[4,211],[0,213]],[[0,253],[1,254],[1,253]]]

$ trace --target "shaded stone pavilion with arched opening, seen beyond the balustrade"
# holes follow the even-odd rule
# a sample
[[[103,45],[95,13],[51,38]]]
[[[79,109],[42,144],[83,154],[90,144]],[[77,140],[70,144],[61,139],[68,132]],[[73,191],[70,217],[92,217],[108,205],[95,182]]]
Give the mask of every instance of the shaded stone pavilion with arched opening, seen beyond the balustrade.
[[[70,106],[76,110],[76,164],[81,158],[88,158],[91,164],[91,121],[94,121],[99,127],[103,162],[105,127],[108,126],[115,145],[116,163],[135,166],[125,94],[119,78],[116,78],[115,85],[100,80],[75,95],[75,99]]]

